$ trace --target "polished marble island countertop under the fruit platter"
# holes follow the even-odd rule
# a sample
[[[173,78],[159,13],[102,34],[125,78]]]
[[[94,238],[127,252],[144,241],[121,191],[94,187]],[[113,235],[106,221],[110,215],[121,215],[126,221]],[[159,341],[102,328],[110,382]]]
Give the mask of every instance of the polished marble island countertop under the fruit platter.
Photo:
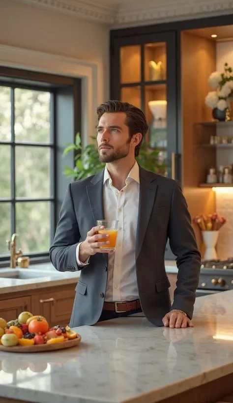
[[[128,317],[77,328],[79,347],[0,351],[0,397],[33,403],[149,403],[233,372],[233,290],[197,298],[194,328]]]

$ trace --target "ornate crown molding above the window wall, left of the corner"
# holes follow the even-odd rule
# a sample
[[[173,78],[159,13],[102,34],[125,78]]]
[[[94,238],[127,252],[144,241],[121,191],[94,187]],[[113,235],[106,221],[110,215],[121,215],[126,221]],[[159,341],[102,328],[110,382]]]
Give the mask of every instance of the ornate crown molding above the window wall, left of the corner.
[[[118,3],[115,0],[15,0],[21,3],[49,8],[102,24],[116,21]]]

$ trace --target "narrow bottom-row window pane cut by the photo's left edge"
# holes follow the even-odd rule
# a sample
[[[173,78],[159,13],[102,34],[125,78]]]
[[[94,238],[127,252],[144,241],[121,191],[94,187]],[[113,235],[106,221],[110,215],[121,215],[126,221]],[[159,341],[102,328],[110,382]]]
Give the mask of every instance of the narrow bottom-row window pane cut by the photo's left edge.
[[[10,203],[0,203],[0,255],[9,255],[6,239],[11,239]]]

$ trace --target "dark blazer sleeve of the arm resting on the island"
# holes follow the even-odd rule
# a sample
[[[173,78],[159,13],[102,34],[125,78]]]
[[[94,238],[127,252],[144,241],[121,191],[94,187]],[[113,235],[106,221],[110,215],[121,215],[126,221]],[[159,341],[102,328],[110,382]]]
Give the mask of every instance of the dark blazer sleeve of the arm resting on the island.
[[[201,255],[191,225],[187,202],[178,182],[175,182],[173,190],[168,236],[178,268],[172,309],[180,309],[192,318],[199,284]]]

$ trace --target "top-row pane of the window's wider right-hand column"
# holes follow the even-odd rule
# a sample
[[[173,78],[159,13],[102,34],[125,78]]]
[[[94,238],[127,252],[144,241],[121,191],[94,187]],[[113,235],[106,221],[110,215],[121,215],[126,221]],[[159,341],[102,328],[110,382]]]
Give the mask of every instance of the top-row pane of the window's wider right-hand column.
[[[15,141],[50,143],[50,92],[15,89]]]

